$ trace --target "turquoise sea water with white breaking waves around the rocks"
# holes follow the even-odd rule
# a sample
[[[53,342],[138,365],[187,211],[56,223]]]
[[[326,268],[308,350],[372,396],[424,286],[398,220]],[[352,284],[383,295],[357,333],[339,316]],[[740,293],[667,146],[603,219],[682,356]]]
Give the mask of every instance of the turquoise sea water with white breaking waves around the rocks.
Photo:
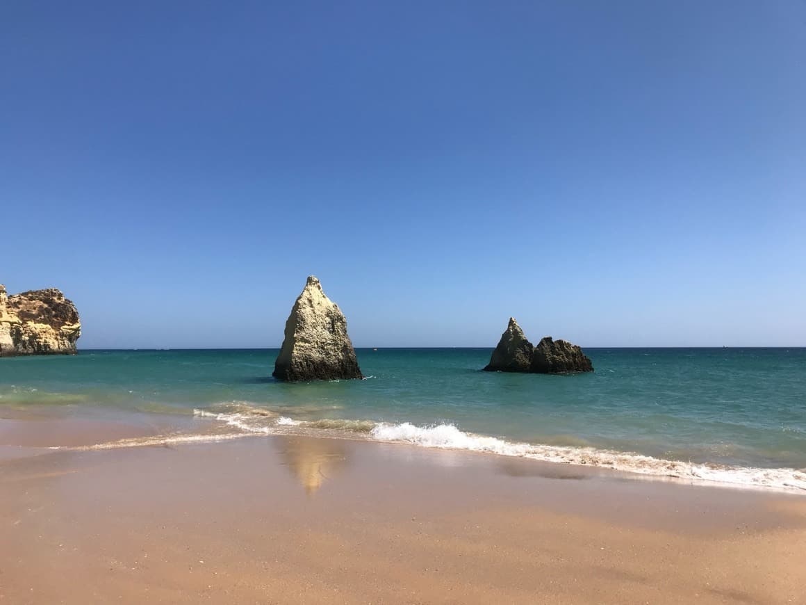
[[[806,348],[590,348],[596,372],[568,376],[481,372],[490,352],[358,349],[367,379],[303,384],[271,378],[276,349],[10,358],[0,417],[195,415],[235,432],[343,432],[806,488]]]

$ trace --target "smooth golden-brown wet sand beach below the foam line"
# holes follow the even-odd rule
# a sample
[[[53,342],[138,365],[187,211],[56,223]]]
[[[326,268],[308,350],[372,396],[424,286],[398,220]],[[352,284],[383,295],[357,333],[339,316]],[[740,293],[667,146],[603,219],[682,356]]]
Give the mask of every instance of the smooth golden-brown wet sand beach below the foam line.
[[[0,603],[806,602],[803,496],[302,436],[11,433]]]

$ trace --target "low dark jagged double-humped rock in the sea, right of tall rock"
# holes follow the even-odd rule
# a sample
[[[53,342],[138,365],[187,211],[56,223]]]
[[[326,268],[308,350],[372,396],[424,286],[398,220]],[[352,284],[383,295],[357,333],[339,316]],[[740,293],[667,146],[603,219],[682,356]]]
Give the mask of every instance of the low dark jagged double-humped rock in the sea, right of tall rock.
[[[510,317],[509,325],[484,369],[488,372],[558,374],[592,372],[593,365],[580,347],[565,340],[546,336],[538,346],[533,346],[515,318]]]

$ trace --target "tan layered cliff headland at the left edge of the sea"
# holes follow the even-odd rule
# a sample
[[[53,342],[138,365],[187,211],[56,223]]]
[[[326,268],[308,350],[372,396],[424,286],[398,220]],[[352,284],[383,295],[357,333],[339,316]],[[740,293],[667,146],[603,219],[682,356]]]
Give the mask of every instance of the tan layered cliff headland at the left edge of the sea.
[[[9,296],[0,285],[0,357],[74,355],[79,336],[76,306],[60,290]]]

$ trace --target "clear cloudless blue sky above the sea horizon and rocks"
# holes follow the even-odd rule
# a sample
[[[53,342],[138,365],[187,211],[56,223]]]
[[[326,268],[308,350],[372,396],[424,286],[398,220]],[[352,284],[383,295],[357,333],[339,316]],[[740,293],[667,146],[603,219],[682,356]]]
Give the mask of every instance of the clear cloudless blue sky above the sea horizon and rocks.
[[[806,3],[3,2],[0,282],[83,348],[806,345]]]

